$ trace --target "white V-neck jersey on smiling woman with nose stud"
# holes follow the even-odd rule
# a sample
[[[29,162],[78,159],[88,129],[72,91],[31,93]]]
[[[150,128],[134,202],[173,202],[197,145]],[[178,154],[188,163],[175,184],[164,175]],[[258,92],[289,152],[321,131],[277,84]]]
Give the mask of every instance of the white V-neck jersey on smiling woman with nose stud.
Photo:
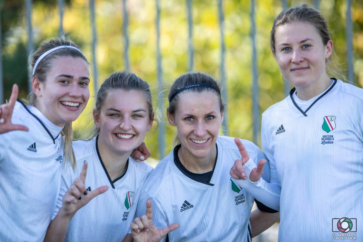
[[[135,219],[141,188],[153,168],[144,161],[134,161],[130,156],[126,173],[112,183],[99,159],[96,138],[74,141],[73,149],[77,160],[76,173],[71,168],[63,169],[61,192],[53,218],[62,206],[63,195],[79,177],[83,161],[88,163],[86,188],[94,190],[107,185],[109,190],[76,212],[69,223],[65,241],[122,241],[127,233],[131,233],[130,224]]]

